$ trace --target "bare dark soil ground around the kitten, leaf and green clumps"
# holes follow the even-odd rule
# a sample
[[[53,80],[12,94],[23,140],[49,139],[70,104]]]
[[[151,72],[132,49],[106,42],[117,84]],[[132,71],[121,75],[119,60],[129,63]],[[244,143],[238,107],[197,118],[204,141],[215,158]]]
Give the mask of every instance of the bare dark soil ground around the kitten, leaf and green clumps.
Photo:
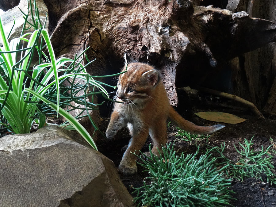
[[[255,117],[250,111],[244,110],[241,106],[235,106],[231,108],[218,108],[214,107],[216,102],[224,103],[224,105],[231,105],[233,103],[228,100],[219,100],[216,99],[216,102],[212,99],[212,97],[201,97],[197,98],[189,98],[180,96],[182,100],[185,100],[185,103],[180,102],[180,105],[185,105],[185,110],[178,109],[179,113],[189,121],[194,122],[197,125],[214,125],[214,124],[223,124],[223,123],[215,123],[212,121],[207,121],[201,118],[198,118],[194,115],[195,112],[200,111],[221,111],[232,113],[241,118],[247,119],[240,124],[224,124],[226,127],[221,129],[218,132],[215,132],[208,140],[208,144],[211,146],[220,146],[221,143],[226,143],[226,149],[224,151],[224,155],[233,161],[238,161],[238,153],[234,148],[234,144],[239,146],[239,142],[243,143],[244,139],[250,140],[253,136],[253,148],[259,149],[263,145],[264,148],[267,148],[272,143],[270,138],[273,139],[274,143],[276,142],[276,117],[275,116],[265,116],[265,120],[260,120]],[[212,100],[211,100],[212,99]],[[203,101],[204,100],[204,101]],[[211,102],[211,105],[210,105]],[[206,106],[208,103],[209,106]],[[241,108],[242,110],[238,110]],[[107,125],[109,123],[108,118],[104,118],[101,122],[101,129],[105,131]],[[176,135],[175,126],[170,126],[167,129],[168,132],[168,142],[175,142],[175,150],[178,151],[186,151],[187,153],[194,153],[196,151],[196,146],[194,144],[189,144],[186,141],[179,140]],[[105,156],[113,160],[115,166],[118,166],[123,151],[121,150],[130,139],[130,135],[128,134],[128,130],[125,128],[121,130],[115,137],[114,140],[101,140],[98,143],[98,149]],[[151,143],[151,140],[148,138],[146,144],[144,145],[142,151],[148,151],[148,145]],[[203,142],[203,144],[206,141]],[[198,144],[198,143],[197,143]],[[276,144],[274,145],[276,146]],[[276,150],[274,148],[274,150]],[[274,156],[274,167],[276,168],[276,156]],[[126,188],[130,193],[133,192],[133,187],[140,187],[143,185],[143,179],[147,176],[145,172],[143,172],[143,168],[139,165],[138,173],[132,176],[124,176],[120,174],[122,182],[125,184]],[[265,179],[264,179],[265,180]],[[232,200],[231,205],[236,207],[244,207],[244,206],[264,206],[264,207],[276,207],[276,185],[269,185],[267,182],[261,182],[261,180],[255,180],[254,178],[247,178],[243,182],[237,181],[233,179],[231,190],[235,192],[232,194],[233,198],[237,200]],[[136,196],[132,194],[132,196]]]

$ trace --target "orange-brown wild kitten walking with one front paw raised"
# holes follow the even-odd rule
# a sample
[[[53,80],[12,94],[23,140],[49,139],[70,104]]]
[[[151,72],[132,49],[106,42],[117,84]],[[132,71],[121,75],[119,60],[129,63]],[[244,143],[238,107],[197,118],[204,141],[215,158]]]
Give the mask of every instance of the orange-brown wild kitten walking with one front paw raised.
[[[148,64],[129,62],[125,54],[127,71],[119,76],[117,101],[108,128],[106,137],[111,139],[123,127],[128,126],[132,136],[125,151],[119,170],[126,175],[137,172],[136,158],[131,154],[138,154],[147,137],[153,140],[152,152],[158,154],[157,148],[166,145],[167,119],[178,127],[197,134],[215,132],[224,125],[197,126],[181,117],[170,105],[167,92],[159,72]],[[125,67],[122,71],[125,71]],[[136,151],[137,150],[137,151]]]

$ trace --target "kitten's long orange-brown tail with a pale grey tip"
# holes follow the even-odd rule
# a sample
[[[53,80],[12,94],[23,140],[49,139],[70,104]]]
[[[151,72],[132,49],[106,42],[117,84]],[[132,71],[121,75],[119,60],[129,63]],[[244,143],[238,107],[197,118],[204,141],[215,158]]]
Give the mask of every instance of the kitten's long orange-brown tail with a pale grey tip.
[[[194,123],[187,121],[182,116],[180,116],[172,106],[169,111],[169,118],[179,128],[182,128],[187,132],[195,133],[195,134],[210,134],[225,127],[224,125],[221,125],[221,124],[213,125],[213,126],[195,125]]]

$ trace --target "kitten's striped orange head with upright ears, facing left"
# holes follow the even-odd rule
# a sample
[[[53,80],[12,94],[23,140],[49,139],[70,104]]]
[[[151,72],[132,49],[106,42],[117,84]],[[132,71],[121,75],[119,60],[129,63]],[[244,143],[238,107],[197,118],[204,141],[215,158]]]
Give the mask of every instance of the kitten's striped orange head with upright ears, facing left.
[[[117,97],[125,104],[138,104],[149,100],[159,82],[159,73],[145,63],[133,62],[125,54],[127,71],[119,76]]]

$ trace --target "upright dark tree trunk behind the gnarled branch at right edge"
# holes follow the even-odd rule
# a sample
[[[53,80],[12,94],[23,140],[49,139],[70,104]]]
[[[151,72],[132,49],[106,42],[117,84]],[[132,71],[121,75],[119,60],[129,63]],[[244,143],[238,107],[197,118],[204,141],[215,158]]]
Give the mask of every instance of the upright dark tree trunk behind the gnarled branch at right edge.
[[[250,17],[276,21],[276,2],[273,0],[229,0],[226,7],[233,12],[246,11]],[[275,30],[275,29],[274,29]],[[263,39],[266,30],[255,38]],[[233,90],[259,109],[276,113],[276,44],[270,43],[235,59],[236,76]]]

